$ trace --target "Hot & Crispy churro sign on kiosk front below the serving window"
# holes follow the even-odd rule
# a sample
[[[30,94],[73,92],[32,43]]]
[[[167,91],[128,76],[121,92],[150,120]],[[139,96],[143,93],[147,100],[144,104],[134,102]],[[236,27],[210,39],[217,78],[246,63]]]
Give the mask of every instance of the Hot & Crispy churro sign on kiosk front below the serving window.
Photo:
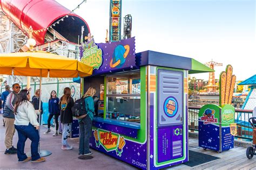
[[[119,134],[102,129],[94,130],[96,147],[102,145],[107,152],[116,150],[119,157],[122,156],[123,147],[125,145],[124,137],[119,137]]]

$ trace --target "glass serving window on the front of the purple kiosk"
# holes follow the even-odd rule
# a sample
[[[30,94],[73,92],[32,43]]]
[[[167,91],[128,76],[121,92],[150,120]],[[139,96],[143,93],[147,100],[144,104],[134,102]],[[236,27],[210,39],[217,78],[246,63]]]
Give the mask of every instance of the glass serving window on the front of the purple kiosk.
[[[107,76],[106,118],[140,122],[140,73]]]

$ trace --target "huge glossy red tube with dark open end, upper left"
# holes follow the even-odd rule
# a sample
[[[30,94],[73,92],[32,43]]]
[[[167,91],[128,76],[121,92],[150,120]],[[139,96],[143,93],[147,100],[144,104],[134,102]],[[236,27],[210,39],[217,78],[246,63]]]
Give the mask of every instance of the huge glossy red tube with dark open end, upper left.
[[[27,35],[30,25],[33,30],[40,30],[70,13],[70,10],[55,0],[0,0],[0,5],[4,14]],[[78,36],[81,34],[81,26],[84,26],[83,34],[86,36],[90,29],[85,20],[75,13],[70,13],[68,18],[52,26],[52,29],[68,41],[77,43]],[[43,30],[32,34],[37,45],[45,42],[46,32],[47,30]]]

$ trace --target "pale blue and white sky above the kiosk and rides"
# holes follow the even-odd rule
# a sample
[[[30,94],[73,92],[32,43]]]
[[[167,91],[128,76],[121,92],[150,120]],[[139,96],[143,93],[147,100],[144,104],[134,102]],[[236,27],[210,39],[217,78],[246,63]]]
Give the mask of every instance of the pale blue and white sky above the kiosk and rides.
[[[73,10],[82,0],[58,0]],[[90,27],[95,42],[105,42],[109,0],[87,0],[75,10]],[[122,0],[123,17],[132,15],[136,53],[152,50],[215,61],[215,77],[233,66],[237,80],[256,74],[256,1],[254,0]],[[123,34],[123,30],[122,30]],[[208,73],[193,74],[208,80]]]

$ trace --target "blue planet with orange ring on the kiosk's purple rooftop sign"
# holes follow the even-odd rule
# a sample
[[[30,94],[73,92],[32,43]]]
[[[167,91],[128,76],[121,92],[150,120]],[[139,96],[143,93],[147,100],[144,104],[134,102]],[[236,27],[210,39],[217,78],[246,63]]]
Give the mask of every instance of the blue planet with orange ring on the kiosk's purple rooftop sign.
[[[116,48],[114,48],[114,53],[110,61],[110,67],[121,68],[125,63],[125,58],[127,57],[129,50],[129,45],[118,45]]]

